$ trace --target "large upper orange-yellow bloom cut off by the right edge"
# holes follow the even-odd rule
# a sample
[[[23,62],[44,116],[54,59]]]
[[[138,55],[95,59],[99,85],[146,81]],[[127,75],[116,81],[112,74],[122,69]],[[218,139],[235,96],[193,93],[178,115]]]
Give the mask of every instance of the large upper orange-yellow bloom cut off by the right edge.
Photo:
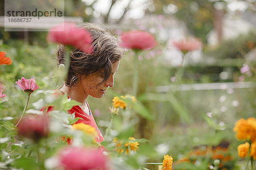
[[[235,123],[233,131],[236,133],[238,140],[256,141],[256,119],[250,117],[248,119],[239,119]]]

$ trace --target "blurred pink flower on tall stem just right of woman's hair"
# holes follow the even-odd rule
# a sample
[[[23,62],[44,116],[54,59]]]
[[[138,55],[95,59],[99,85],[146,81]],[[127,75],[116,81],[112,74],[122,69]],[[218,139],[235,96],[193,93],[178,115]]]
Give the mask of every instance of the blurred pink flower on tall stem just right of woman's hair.
[[[157,45],[154,36],[146,31],[127,31],[121,34],[120,45],[134,50],[148,50]]]

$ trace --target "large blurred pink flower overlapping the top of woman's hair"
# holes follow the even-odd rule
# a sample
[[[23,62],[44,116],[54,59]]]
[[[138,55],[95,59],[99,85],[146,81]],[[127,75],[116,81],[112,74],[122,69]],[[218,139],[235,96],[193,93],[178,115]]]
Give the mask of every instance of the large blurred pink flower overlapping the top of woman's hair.
[[[47,40],[63,45],[71,45],[87,54],[91,54],[93,51],[91,34],[82,28],[76,27],[75,23],[64,23],[50,28]]]

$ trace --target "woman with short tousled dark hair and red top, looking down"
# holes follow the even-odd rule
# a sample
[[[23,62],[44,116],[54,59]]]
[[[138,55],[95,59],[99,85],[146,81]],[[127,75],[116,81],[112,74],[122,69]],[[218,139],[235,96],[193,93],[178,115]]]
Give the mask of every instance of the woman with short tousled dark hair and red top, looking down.
[[[96,129],[96,142],[104,140],[99,131],[90,107],[88,96],[102,98],[108,88],[114,86],[114,74],[119,67],[119,60],[124,50],[119,46],[118,38],[111,28],[91,23],[84,23],[81,28],[90,32],[93,37],[93,53],[86,54],[78,49],[70,53],[70,66],[65,84],[58,88],[62,94],[82,105],[73,106],[68,113],[80,117],[76,123],[83,122]],[[56,60],[64,64],[65,48],[59,45]]]

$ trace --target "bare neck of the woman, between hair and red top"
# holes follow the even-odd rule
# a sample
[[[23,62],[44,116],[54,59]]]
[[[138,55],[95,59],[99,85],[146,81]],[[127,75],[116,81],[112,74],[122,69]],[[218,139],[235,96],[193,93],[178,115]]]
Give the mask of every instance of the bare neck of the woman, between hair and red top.
[[[84,91],[81,90],[79,87],[67,87],[63,85],[60,89],[63,93],[67,94],[67,96],[73,100],[76,100],[80,103],[85,103],[88,95],[84,95]]]

